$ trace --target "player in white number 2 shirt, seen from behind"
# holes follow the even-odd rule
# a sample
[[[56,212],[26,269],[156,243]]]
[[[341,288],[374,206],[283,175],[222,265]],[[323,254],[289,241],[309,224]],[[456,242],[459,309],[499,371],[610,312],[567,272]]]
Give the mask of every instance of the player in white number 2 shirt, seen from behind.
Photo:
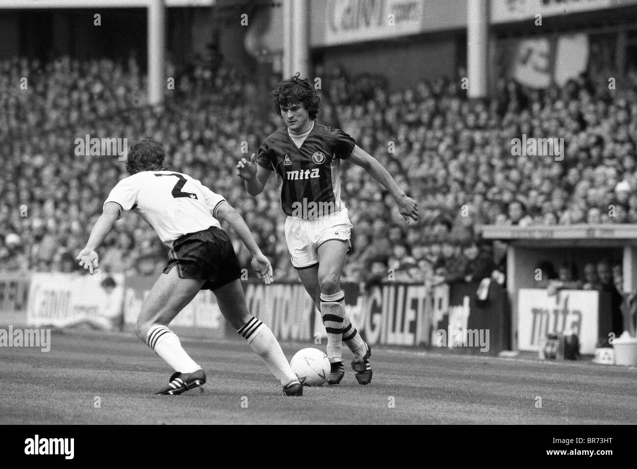
[[[272,266],[236,210],[196,179],[171,171],[159,143],[146,139],[132,145],[126,177],[104,202],[103,213],[80,254],[80,265],[92,274],[99,266],[96,249],[122,213],[133,210],[170,248],[168,266],[145,299],[136,333],[175,373],[157,394],[181,394],[206,382],[206,375],[182,349],[168,324],[201,289],[217,297],[225,319],[237,329],[280,380],[285,396],[301,396],[299,383],[272,331],[248,314],[241,269],[233,245],[218,220],[225,220],[252,254],[252,268],[266,284]]]

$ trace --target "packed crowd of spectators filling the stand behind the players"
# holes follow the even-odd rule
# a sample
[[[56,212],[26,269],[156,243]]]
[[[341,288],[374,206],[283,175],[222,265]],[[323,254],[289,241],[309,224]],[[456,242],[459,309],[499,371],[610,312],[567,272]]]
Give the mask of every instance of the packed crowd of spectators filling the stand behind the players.
[[[501,80],[490,101],[466,99],[459,80],[423,80],[390,92],[377,75],[317,67],[318,120],[351,134],[417,200],[406,224],[361,168],[343,164],[343,199],[354,224],[348,280],[428,282],[503,278],[506,246],[480,238],[483,224],[637,222],[637,75],[630,86],[585,76],[542,92]],[[273,260],[275,278],[296,280],[285,247],[278,181],[248,196],[234,166],[280,126],[268,96],[229,68],[178,74],[163,110],[145,105],[145,76],[130,59],[63,57],[0,61],[0,270],[73,271],[75,255],[108,191],[126,175],[116,155],[78,154],[76,139],[150,137],[173,169],[223,194]],[[461,72],[462,76],[462,72]],[[272,84],[278,81],[273,76]],[[271,106],[267,105],[268,110]],[[512,139],[564,138],[561,161],[514,155]],[[236,244],[248,266],[248,253]],[[107,271],[161,271],[166,248],[134,215],[106,239]]]

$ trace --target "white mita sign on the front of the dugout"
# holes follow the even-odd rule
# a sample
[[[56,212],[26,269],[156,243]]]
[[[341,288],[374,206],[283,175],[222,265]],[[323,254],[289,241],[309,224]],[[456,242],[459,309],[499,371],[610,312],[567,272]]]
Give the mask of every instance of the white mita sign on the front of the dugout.
[[[592,355],[598,342],[599,292],[522,288],[518,294],[518,347],[539,351],[548,333],[572,331],[580,353]]]

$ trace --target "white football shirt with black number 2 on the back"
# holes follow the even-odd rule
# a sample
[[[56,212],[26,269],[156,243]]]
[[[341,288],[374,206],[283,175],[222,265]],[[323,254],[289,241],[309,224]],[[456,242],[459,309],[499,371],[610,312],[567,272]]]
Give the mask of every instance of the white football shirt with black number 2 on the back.
[[[142,171],[117,183],[104,202],[122,213],[135,210],[152,226],[169,248],[187,233],[211,226],[225,199],[187,174],[175,171]]]

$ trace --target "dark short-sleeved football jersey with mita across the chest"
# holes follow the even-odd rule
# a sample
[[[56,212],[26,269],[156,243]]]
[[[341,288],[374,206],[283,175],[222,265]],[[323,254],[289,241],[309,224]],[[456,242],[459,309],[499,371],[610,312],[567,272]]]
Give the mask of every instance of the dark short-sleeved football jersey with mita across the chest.
[[[348,159],[356,142],[339,129],[314,123],[300,148],[284,127],[264,140],[257,164],[274,170],[283,179],[281,206],[287,215],[298,216],[299,206],[329,207],[323,215],[345,208],[341,201],[341,159]],[[312,204],[314,203],[314,204]],[[294,212],[294,213],[293,213]],[[306,216],[303,210],[302,218]]]

